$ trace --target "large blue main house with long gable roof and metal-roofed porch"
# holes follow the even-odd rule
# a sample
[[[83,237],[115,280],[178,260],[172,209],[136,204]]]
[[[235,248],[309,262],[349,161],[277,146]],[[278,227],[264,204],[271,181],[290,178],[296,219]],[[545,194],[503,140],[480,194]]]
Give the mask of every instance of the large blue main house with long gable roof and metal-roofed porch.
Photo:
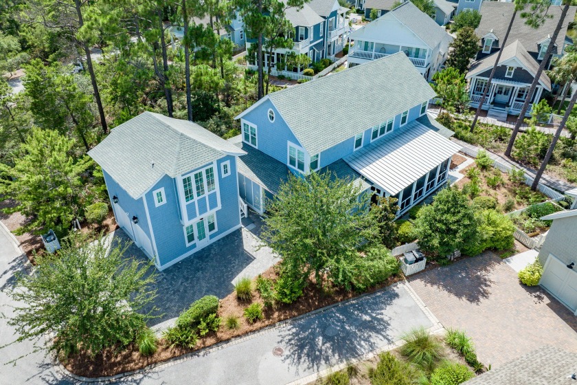
[[[343,89],[363,91],[343,104]],[[403,214],[445,183],[460,150],[427,115],[434,96],[403,53],[265,96],[236,117],[241,135],[229,140],[247,153],[241,199],[262,213],[288,173],[319,170],[398,198]]]

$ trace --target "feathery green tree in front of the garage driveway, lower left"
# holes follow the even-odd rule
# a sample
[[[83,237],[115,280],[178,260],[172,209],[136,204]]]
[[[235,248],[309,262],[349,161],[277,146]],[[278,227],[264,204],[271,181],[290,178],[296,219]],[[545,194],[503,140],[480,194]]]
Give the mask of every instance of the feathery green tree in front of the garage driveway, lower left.
[[[54,338],[47,339],[48,349],[65,357],[80,349],[94,356],[133,342],[154,316],[143,310],[156,296],[155,274],[150,265],[126,258],[127,247],[109,250],[104,241],[75,233],[58,254],[38,257],[34,274],[22,274],[10,292],[24,304],[9,320],[18,340],[49,333]]]

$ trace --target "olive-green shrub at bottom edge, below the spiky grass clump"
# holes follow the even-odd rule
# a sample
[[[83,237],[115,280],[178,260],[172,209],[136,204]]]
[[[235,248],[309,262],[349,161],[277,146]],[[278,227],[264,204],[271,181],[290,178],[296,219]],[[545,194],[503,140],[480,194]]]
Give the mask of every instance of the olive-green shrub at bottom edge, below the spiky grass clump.
[[[378,355],[375,368],[369,369],[372,385],[414,385],[422,374],[408,362],[398,360],[388,351]]]

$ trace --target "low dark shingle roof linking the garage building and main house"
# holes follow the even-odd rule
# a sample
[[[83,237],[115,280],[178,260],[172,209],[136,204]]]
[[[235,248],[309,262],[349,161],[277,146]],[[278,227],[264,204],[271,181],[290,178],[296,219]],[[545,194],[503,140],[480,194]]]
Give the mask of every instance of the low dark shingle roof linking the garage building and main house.
[[[231,137],[228,141],[247,153],[236,161],[238,172],[276,194],[280,185],[288,179],[290,171],[286,165],[243,143],[241,135]]]

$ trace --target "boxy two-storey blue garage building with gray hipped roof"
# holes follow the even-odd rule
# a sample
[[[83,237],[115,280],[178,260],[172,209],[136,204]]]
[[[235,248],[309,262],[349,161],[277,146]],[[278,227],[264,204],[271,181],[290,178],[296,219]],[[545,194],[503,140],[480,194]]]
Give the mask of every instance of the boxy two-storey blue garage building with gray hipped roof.
[[[159,270],[240,228],[245,151],[186,120],[145,112],[89,151],[116,222]]]

